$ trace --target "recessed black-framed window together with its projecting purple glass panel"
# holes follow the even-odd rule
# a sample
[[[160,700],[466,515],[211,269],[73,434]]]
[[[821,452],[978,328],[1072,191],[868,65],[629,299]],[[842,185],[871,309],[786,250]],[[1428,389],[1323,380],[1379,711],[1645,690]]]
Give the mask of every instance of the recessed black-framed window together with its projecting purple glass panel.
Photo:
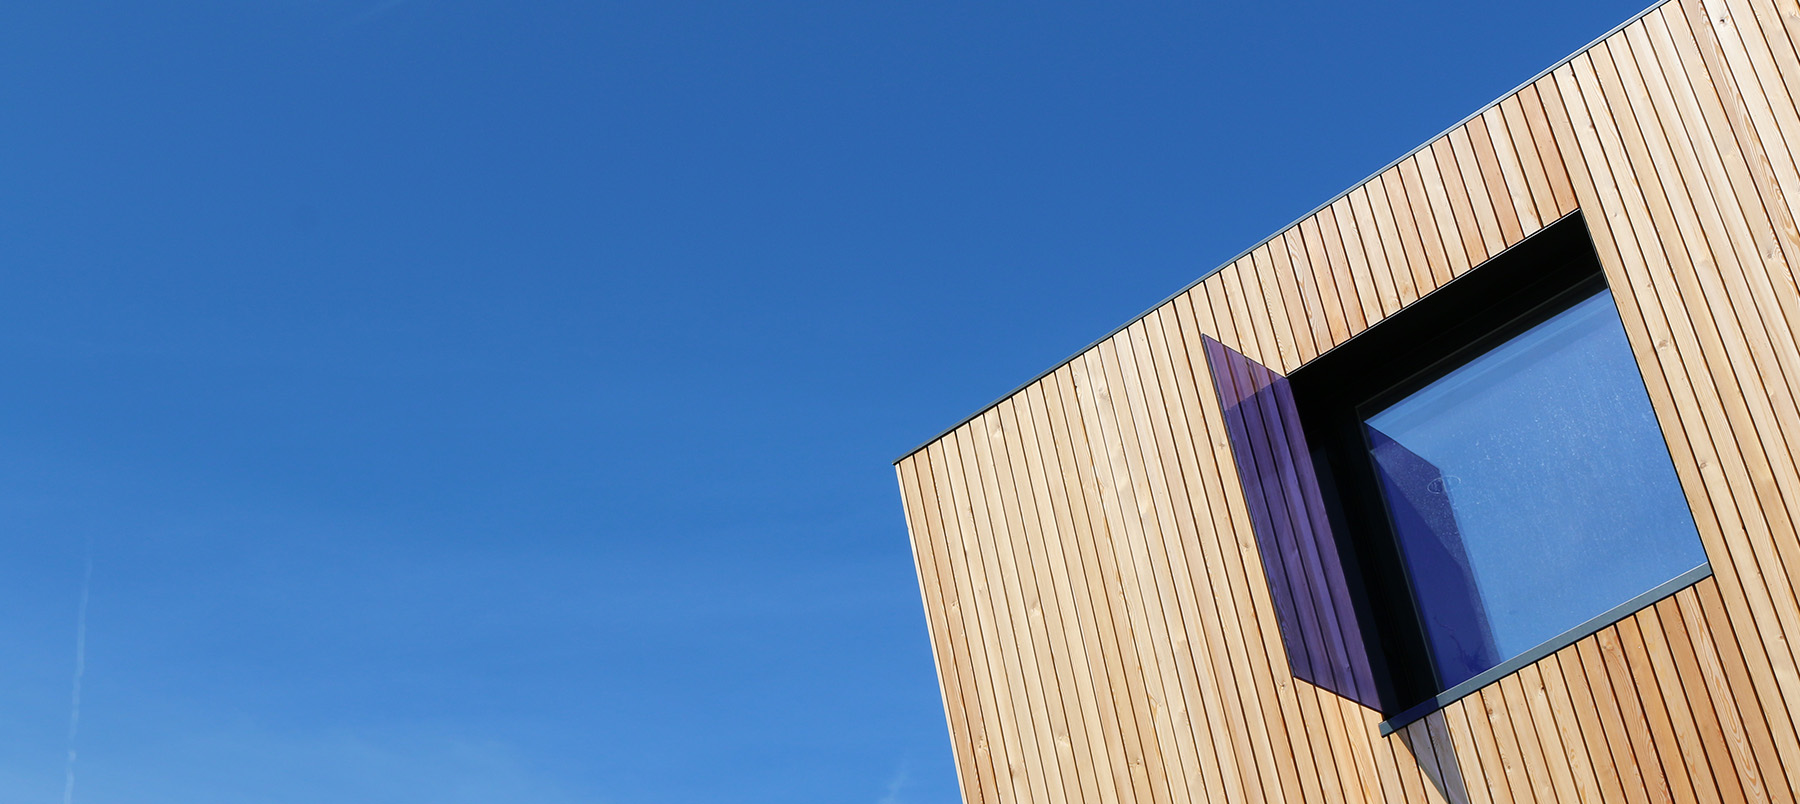
[[[1579,214],[1285,378],[1208,349],[1300,678],[1413,709],[1706,563]]]

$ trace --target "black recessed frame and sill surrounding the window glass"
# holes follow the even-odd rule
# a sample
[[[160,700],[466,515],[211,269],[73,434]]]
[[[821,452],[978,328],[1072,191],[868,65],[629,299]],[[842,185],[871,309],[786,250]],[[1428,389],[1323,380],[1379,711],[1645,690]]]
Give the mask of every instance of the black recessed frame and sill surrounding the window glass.
[[[1289,374],[1391,714],[1384,734],[1710,574],[1701,565],[1451,689],[1438,680],[1363,419],[1606,288],[1586,221],[1571,212]]]

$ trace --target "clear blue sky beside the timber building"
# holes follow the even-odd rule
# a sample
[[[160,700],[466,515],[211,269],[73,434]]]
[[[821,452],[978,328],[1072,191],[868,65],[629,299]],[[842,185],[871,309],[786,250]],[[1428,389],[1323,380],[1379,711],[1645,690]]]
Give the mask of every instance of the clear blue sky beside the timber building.
[[[0,800],[950,802],[889,462],[1638,11],[0,4]]]

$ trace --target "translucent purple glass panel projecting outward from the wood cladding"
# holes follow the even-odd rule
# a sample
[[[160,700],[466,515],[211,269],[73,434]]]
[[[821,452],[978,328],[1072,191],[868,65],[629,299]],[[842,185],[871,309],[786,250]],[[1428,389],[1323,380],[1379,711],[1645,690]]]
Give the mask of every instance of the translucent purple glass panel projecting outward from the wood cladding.
[[[1368,648],[1287,378],[1206,338],[1294,678],[1377,709]]]

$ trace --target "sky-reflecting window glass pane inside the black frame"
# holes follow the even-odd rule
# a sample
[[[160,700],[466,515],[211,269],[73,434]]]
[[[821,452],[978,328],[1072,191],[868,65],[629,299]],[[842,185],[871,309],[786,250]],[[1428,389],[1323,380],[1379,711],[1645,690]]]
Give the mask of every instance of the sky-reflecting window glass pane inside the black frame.
[[[1445,687],[1705,561],[1607,291],[1364,426]]]

